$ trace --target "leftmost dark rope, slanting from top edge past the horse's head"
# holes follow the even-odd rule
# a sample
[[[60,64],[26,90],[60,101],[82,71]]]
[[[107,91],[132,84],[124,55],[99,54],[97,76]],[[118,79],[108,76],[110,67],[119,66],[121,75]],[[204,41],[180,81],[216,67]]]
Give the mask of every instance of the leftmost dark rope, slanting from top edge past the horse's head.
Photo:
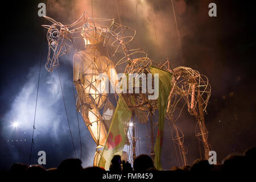
[[[49,2],[49,0],[47,0],[46,14],[47,14],[47,10],[48,10],[48,2]],[[45,20],[45,24],[46,24],[46,20]],[[46,34],[46,28],[44,28],[43,35],[44,35],[44,34]],[[43,36],[42,45],[44,44],[44,40],[45,40],[45,38],[44,38],[44,36]],[[31,148],[30,148],[30,158],[29,158],[29,163],[28,163],[29,165],[31,164],[32,148],[33,148],[33,145],[34,145],[35,118],[36,118],[36,108],[37,108],[37,106],[38,106],[38,92],[39,92],[39,83],[40,83],[42,59],[43,59],[43,56],[42,56],[42,58],[41,58],[40,61],[39,61],[38,87],[37,87],[37,90],[36,90],[36,103],[35,103],[35,113],[34,113],[34,122],[33,122],[33,130],[32,130],[32,140],[31,140]]]

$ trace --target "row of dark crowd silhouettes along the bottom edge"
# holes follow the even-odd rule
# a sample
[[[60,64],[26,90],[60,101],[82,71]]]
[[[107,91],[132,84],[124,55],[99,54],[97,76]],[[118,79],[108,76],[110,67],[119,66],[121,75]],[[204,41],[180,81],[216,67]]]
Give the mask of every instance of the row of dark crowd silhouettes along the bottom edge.
[[[138,171],[157,171],[150,156],[139,155],[135,158],[133,168],[129,162],[121,161],[121,156],[115,155],[110,165],[110,172],[138,172]],[[172,167],[168,171],[191,171],[191,172],[208,172],[208,171],[222,171],[222,172],[241,172],[241,171],[255,171],[256,162],[256,147],[248,148],[243,154],[230,154],[222,160],[221,164],[209,164],[208,160],[197,159],[191,166]],[[27,164],[13,164],[10,172],[26,172],[26,173],[44,173],[47,171],[55,172],[104,172],[104,168],[87,167],[82,168],[80,159],[65,159],[57,168],[46,169],[40,165],[28,166]]]

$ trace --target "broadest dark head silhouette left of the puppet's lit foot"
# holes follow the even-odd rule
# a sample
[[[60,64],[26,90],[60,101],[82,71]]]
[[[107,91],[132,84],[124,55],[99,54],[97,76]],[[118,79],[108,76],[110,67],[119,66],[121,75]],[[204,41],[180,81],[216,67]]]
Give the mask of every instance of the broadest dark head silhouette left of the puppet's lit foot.
[[[57,170],[61,172],[75,172],[82,169],[82,162],[80,159],[65,159],[58,166]]]

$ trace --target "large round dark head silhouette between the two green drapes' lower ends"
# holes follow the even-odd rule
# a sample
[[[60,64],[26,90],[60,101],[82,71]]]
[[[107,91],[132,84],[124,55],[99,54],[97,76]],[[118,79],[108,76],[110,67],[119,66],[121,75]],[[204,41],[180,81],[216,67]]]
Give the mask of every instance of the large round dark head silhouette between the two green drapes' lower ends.
[[[146,171],[152,167],[154,167],[153,160],[145,154],[139,155],[133,163],[134,171]]]

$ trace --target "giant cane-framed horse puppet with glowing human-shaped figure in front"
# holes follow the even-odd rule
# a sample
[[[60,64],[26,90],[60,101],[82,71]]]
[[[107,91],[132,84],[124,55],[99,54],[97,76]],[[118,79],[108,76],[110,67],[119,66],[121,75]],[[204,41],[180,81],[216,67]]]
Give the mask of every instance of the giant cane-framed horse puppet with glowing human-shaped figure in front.
[[[114,125],[112,121],[114,116],[110,112],[110,110],[114,110],[114,106],[108,98],[106,80],[109,80],[115,88],[119,80],[115,68],[122,64],[126,65],[124,75],[127,75],[127,73],[151,73],[152,65],[160,72],[170,73],[171,77],[168,82],[171,84],[167,88],[169,91],[164,117],[170,124],[172,140],[179,147],[179,158],[181,158],[183,165],[187,164],[185,156],[187,148],[183,145],[184,135],[176,125],[181,110],[187,105],[189,113],[196,117],[196,137],[203,143],[205,151],[202,158],[208,159],[210,149],[207,142],[208,131],[204,123],[204,111],[210,97],[210,85],[207,77],[187,67],[171,69],[168,60],[164,64],[155,64],[147,57],[147,53],[140,48],[129,48],[134,39],[135,30],[115,23],[114,19],[92,18],[86,11],[76,22],[67,25],[48,16],[44,16],[44,18],[52,23],[51,25],[43,25],[48,29],[47,71],[52,72],[54,68],[59,67],[59,57],[68,53],[77,40],[84,40],[84,49],[79,52],[76,51],[73,55],[73,82],[77,91],[77,110],[81,113],[97,145],[94,166],[98,166],[99,160],[102,158],[102,151],[105,150],[104,146],[109,142],[109,130],[113,128],[112,124]],[[100,74],[105,74],[107,77],[99,78]],[[136,117],[139,122],[144,124],[150,123],[151,156],[154,159],[156,150],[152,147],[155,141],[152,116],[160,107],[158,101],[148,99],[150,94],[148,92],[139,94],[122,93],[121,95],[115,94],[115,96],[118,95],[119,98],[122,96],[122,101],[125,102],[126,108],[131,112],[133,118]],[[180,105],[181,108],[179,109]],[[110,125],[110,123],[112,124]],[[133,157],[135,157],[135,136],[133,135],[131,137],[132,142],[129,142],[126,127],[124,131],[126,133],[125,144],[132,145]],[[104,147],[104,150],[100,151],[102,147]],[[123,146],[121,147],[122,150]]]

